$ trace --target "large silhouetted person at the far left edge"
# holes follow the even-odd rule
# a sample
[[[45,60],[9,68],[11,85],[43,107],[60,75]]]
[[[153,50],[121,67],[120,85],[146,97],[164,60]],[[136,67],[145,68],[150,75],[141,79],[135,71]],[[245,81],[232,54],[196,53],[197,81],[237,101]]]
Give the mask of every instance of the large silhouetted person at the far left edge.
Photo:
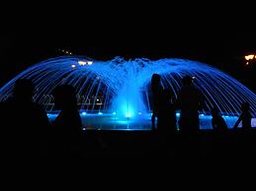
[[[2,103],[4,140],[7,153],[15,158],[39,157],[49,127],[43,107],[33,101],[31,80],[15,82],[13,96]]]

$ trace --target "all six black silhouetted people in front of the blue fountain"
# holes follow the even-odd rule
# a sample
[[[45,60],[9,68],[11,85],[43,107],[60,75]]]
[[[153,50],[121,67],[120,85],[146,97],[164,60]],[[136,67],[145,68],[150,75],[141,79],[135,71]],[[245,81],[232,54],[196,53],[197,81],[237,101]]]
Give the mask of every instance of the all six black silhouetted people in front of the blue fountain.
[[[157,131],[160,141],[172,140],[180,132],[196,135],[200,130],[199,111],[204,107],[203,94],[193,85],[193,78],[185,76],[183,87],[177,97],[161,84],[161,76],[153,74],[152,91],[152,129]],[[82,142],[82,121],[77,108],[74,88],[61,85],[53,91],[55,108],[60,110],[52,123],[49,123],[43,107],[33,101],[35,86],[31,80],[20,79],[15,82],[13,96],[0,102],[1,146],[7,156],[38,157],[79,156]],[[177,127],[176,110],[180,110]],[[249,104],[243,103],[242,113],[234,125],[240,122],[244,129],[251,128],[252,115]],[[228,129],[217,109],[212,109],[212,125],[216,131]],[[157,124],[156,123],[157,119]]]

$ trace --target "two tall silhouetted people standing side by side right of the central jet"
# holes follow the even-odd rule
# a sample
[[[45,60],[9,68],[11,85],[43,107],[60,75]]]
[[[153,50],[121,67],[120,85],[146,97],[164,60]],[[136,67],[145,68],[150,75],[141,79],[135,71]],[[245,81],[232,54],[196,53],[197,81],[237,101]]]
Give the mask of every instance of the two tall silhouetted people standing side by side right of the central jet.
[[[190,76],[183,78],[183,87],[175,99],[170,90],[164,90],[161,85],[161,77],[153,74],[151,90],[153,100],[152,127],[155,128],[157,117],[157,129],[177,131],[176,110],[180,110],[179,129],[183,132],[196,132],[200,129],[199,110],[203,108],[204,97],[192,84]],[[168,126],[169,125],[169,126]]]

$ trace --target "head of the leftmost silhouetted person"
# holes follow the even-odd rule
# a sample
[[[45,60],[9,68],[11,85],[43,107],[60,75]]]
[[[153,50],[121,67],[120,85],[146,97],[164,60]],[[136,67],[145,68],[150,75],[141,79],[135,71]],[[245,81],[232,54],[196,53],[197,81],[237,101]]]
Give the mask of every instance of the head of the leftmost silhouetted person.
[[[35,86],[29,79],[19,79],[15,82],[13,96],[23,100],[32,100]]]

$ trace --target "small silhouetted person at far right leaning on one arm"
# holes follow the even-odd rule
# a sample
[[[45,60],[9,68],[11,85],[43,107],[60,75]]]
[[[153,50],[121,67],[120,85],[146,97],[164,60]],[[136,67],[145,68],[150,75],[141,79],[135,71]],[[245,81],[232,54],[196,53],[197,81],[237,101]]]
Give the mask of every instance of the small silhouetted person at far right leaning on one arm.
[[[233,129],[237,129],[238,125],[240,122],[242,122],[242,128],[243,129],[251,129],[251,118],[252,115],[250,113],[250,105],[248,102],[244,102],[241,105],[241,110],[242,113],[240,114],[238,120],[236,121],[236,123],[234,124]]]

